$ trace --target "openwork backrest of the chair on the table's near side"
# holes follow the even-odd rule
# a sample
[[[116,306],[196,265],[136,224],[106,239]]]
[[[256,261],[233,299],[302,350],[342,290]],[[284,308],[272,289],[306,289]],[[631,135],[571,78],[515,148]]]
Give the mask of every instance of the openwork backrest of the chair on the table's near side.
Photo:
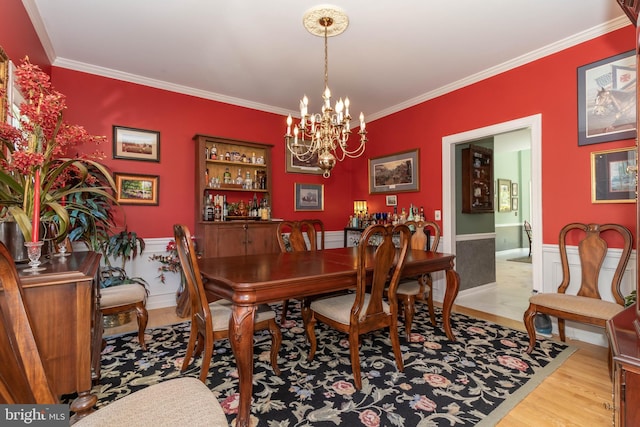
[[[400,248],[397,249],[393,242],[394,233],[400,233]],[[376,243],[374,249],[372,265],[373,276],[367,278],[367,254],[371,251],[369,240],[375,236]],[[351,309],[351,323],[362,323],[367,319],[373,320],[377,316],[385,316],[382,299],[385,288],[388,286],[389,303],[391,312],[397,312],[396,289],[400,281],[400,274],[409,248],[411,231],[405,224],[396,226],[390,225],[370,225],[367,227],[358,242],[358,276],[356,287],[356,298]],[[370,300],[366,312],[362,313],[365,294],[369,293]]]

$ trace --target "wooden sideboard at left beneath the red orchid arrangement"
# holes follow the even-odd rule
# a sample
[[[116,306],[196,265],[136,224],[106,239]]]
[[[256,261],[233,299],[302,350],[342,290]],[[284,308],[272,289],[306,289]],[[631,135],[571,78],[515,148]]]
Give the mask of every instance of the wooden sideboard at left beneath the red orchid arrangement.
[[[98,309],[100,255],[52,257],[38,273],[18,273],[34,334],[56,395],[78,393],[74,412],[93,407],[92,381],[100,377],[102,314]]]

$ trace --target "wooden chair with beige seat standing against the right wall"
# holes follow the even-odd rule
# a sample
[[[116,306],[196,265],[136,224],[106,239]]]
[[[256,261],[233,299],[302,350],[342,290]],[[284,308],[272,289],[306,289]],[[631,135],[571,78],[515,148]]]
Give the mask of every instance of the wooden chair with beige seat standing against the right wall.
[[[608,286],[614,301],[603,300],[599,290],[601,267],[608,248],[607,241],[601,237],[605,233],[622,242],[622,251]],[[578,242],[579,265],[569,263],[567,243],[570,242]],[[571,223],[562,227],[559,238],[562,281],[557,293],[538,293],[529,298],[529,307],[524,313],[524,324],[529,334],[527,353],[531,353],[536,344],[534,318],[538,313],[558,318],[560,340],[565,341],[565,320],[604,328],[607,320],[624,309],[620,284],[631,248],[631,231],[618,224]],[[579,287],[572,286],[572,267],[581,271]]]

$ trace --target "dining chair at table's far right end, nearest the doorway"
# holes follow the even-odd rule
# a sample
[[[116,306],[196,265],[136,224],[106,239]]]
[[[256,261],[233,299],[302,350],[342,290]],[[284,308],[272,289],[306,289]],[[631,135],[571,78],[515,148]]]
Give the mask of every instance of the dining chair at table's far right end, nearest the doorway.
[[[409,228],[413,226],[415,229],[409,243],[411,249],[432,252],[438,250],[438,244],[440,243],[440,226],[438,224],[432,221],[407,221],[405,225]],[[425,230],[429,230],[428,235],[425,233]],[[431,233],[433,233],[433,239],[431,240],[431,245],[429,245],[428,240]],[[407,341],[411,339],[411,325],[413,324],[413,316],[415,315],[416,301],[427,303],[431,324],[436,326],[436,315],[433,308],[433,278],[431,277],[431,273],[421,274],[417,278],[402,279],[398,284],[396,295],[398,296],[398,302],[402,306]]]

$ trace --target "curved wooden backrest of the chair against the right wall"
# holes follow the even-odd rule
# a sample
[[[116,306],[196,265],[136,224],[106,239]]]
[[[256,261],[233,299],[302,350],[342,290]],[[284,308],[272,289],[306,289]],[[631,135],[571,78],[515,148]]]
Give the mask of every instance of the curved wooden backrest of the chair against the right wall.
[[[571,282],[569,261],[567,257],[567,241],[575,237],[574,233],[579,233],[578,254],[580,257],[580,267],[582,278],[578,295],[600,299],[598,290],[598,278],[602,263],[607,255],[607,242],[600,237],[601,233],[613,232],[622,237],[623,247],[620,259],[616,266],[611,281],[611,293],[616,302],[624,305],[624,297],[620,291],[620,283],[624,270],[629,262],[632,248],[632,235],[626,227],[618,224],[581,224],[571,223],[565,225],[560,230],[560,260],[562,263],[562,283],[558,287],[558,293],[565,293]]]

